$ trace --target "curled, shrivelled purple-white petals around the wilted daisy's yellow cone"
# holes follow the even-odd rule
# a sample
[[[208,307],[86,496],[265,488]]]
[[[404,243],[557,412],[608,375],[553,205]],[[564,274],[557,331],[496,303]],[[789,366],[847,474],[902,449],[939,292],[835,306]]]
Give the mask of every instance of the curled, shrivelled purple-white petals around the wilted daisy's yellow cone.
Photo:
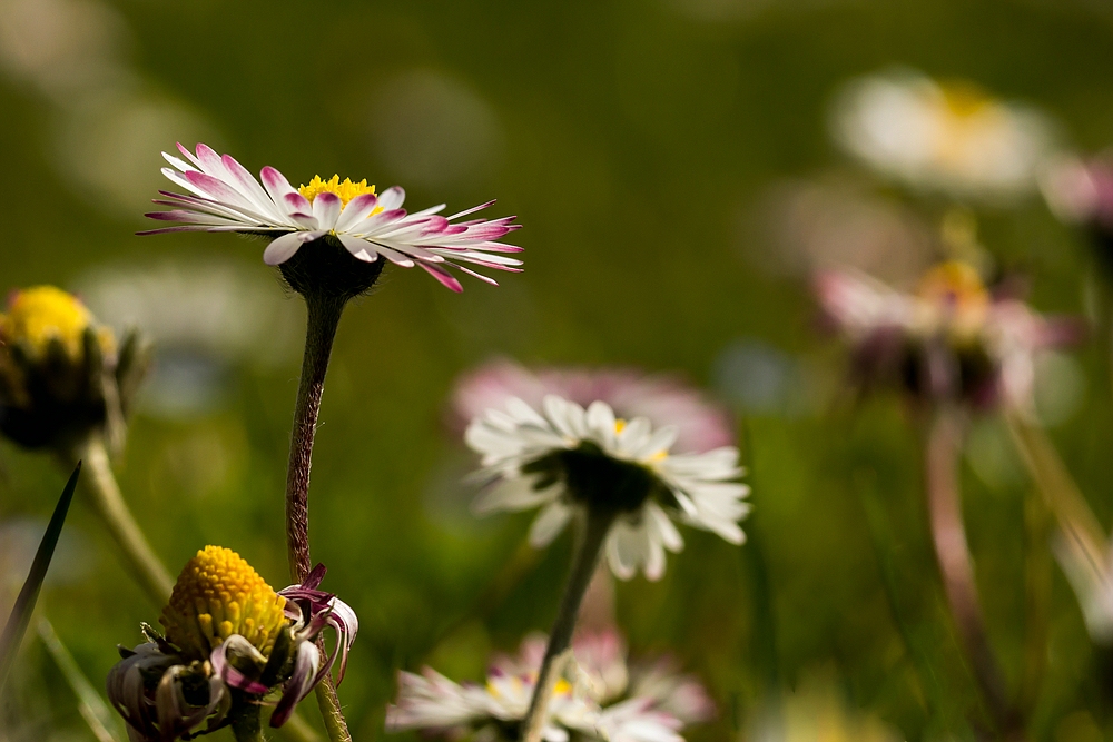
[[[208,662],[189,662],[179,647],[144,627],[147,642],[135,650],[120,647],[122,660],[108,674],[108,698],[128,724],[132,742],[166,742],[186,738],[208,722],[207,730],[226,722],[232,706],[230,689],[265,696],[278,693],[270,715],[272,726],[282,726],[297,704],[305,699],[339,663],[337,683],[344,677],[348,651],[358,631],[355,612],[331,593],[317,590],[325,574],[323,565],[301,585],[278,591],[286,598],[285,613],[293,637],[293,671],[278,686],[268,687],[240,669],[244,662],[263,667],[268,657],[239,634],[232,634],[216,646]],[[323,654],[317,635],[326,627],[336,634],[332,652]],[[198,676],[199,675],[199,676]],[[148,679],[160,680],[151,687]],[[208,685],[207,703],[194,705],[186,698],[190,687]]]

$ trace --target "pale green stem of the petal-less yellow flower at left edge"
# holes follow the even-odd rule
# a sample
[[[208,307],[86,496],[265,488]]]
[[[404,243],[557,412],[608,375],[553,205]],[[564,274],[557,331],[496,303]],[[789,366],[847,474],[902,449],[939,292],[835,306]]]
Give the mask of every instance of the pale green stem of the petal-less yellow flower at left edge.
[[[89,476],[81,477],[81,482],[93,511],[116,542],[131,576],[136,578],[151,603],[161,609],[170,600],[174,580],[155,555],[127,503],[124,502],[120,486],[108,461],[104,438],[99,433],[89,435],[73,446],[66,458],[69,459],[66,462],[68,466],[78,461],[85,462]]]

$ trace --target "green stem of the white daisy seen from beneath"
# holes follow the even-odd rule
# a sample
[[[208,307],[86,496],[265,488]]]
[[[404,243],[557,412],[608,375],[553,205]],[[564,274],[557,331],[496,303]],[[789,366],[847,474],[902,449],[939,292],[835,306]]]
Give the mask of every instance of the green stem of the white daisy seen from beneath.
[[[560,671],[564,666],[565,652],[572,644],[572,632],[575,630],[580,615],[580,604],[591,585],[591,577],[603,553],[607,534],[618,514],[610,509],[588,508],[581,524],[575,556],[572,560],[572,572],[564,595],[561,597],[560,611],[549,633],[549,646],[541,662],[538,683],[530,700],[530,710],[522,721],[522,742],[541,742],[549,702],[552,700]]]

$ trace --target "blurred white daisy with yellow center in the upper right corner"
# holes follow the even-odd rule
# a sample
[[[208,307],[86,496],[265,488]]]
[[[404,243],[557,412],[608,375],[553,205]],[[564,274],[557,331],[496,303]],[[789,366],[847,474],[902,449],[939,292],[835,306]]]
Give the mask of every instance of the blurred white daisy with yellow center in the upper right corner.
[[[1055,139],[1051,121],[1032,108],[912,71],[851,81],[836,100],[831,128],[875,170],[958,198],[1031,191]]]

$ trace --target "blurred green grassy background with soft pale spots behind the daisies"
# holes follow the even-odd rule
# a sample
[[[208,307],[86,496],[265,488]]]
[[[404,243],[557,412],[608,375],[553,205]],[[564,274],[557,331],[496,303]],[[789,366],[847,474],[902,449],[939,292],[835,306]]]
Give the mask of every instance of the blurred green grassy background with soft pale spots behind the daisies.
[[[895,67],[1037,109],[1057,150],[1113,144],[1113,10],[1097,0],[0,0],[2,285],[79,291],[156,342],[126,497],[171,570],[220,544],[280,586],[304,309],[258,243],[134,236],[164,187],[159,151],[205,141],[295,184],[398,184],[415,208],[498,197],[492,216],[524,225],[525,273],[457,296],[391,267],[341,326],[311,535],[361,619],[341,689],[356,739],[387,736],[398,669],[477,680],[492,650],[554,615],[568,536],[533,557],[529,515],[476,521],[460,484],[472,457],[445,423],[453,379],[495,356],[676,372],[737,414],[749,543],[688,531],[660,583],[617,592],[633,654],[673,653],[717,701],[688,739],[781,739],[769,720],[796,716],[784,729],[801,741],[974,739],[915,429],[896,398],[848,402],[808,293],[817,267],[899,284],[946,254],[953,202],[831,136],[847,81]],[[964,209],[1040,309],[1103,306],[1091,246],[1035,188]],[[1048,357],[1037,388],[1105,524],[1107,348]],[[1031,537],[1032,487],[998,419],[977,421],[964,461],[994,646],[1034,738],[1113,739],[1110,659]],[[8,583],[62,482],[55,462],[0,447]],[[157,614],[97,526],[78,503],[41,606],[99,687],[114,646]],[[1044,629],[1025,620],[1040,596]],[[92,739],[41,644],[23,657],[0,739]]]

